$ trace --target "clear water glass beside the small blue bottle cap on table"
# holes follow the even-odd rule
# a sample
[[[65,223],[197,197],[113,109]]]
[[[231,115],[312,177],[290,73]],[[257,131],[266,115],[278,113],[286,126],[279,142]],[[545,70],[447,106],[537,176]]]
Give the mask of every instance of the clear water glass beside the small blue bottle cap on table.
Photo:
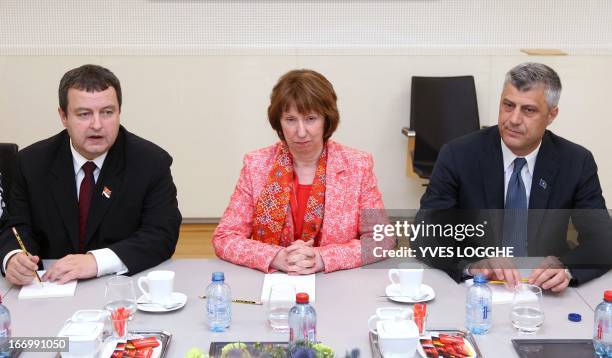
[[[517,285],[512,300],[510,320],[519,333],[536,333],[544,323],[542,289],[525,283]]]

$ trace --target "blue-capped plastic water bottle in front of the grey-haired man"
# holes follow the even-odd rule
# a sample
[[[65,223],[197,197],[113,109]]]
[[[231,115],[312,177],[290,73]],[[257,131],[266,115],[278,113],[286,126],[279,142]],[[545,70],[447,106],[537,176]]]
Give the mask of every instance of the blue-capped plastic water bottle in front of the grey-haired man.
[[[474,277],[465,300],[465,328],[474,334],[487,334],[491,329],[493,293],[484,275]]]

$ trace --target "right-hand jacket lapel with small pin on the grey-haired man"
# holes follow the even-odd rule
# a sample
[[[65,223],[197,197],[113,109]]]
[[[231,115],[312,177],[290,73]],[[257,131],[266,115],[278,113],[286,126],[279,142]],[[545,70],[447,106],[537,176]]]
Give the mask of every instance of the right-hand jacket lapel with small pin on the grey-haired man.
[[[559,158],[550,135],[546,131],[542,138],[542,145],[538,152],[533,179],[531,181],[531,192],[529,195],[529,223],[528,237],[529,246],[537,244],[537,234],[548,207],[548,200],[559,172]],[[534,210],[535,209],[535,210]]]

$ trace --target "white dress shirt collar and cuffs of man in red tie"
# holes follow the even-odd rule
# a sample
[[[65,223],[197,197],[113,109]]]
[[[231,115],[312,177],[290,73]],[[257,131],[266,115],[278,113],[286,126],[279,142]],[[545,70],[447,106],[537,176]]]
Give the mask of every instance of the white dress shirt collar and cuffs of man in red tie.
[[[75,190],[77,193],[77,199],[80,199],[79,195],[81,189],[81,182],[83,182],[83,179],[85,178],[85,171],[83,170],[83,165],[89,160],[83,157],[81,154],[79,154],[79,152],[74,149],[74,147],[72,146],[72,141],[70,141],[70,151],[72,152],[72,164],[74,165],[74,175],[76,179]],[[96,182],[98,181],[98,177],[100,176],[100,171],[102,165],[104,164],[104,159],[106,159],[106,154],[108,154],[108,152],[92,160],[92,162],[94,162],[94,164],[96,165],[96,169],[94,169],[93,172],[94,181]],[[18,252],[21,252],[21,250],[13,250],[4,257],[4,260],[2,262],[4,272],[6,272],[6,263],[8,262],[8,259],[10,259],[11,256]],[[115,254],[111,249],[104,248],[98,250],[91,250],[88,251],[88,253],[92,254],[96,259],[96,264],[98,266],[98,277],[111,273],[117,273],[117,275],[121,275],[128,272],[128,269],[123,263],[123,261],[121,261],[119,256],[117,256],[117,254]]]

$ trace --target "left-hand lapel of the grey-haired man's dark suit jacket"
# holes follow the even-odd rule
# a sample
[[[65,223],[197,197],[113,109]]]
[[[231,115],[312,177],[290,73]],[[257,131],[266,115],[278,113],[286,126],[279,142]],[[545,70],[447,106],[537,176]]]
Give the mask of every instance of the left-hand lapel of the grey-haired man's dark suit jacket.
[[[480,156],[480,172],[484,182],[486,208],[495,241],[501,242],[504,208],[504,159],[497,126],[491,128],[485,150]],[[501,214],[501,215],[500,215]]]

